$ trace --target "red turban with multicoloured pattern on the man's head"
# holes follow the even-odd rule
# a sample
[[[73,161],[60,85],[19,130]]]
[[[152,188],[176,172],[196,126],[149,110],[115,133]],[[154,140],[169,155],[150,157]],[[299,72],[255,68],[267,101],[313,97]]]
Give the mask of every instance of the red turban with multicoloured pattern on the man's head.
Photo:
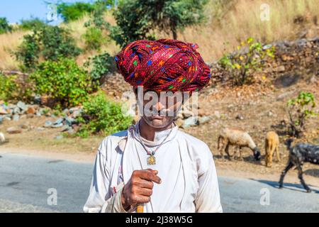
[[[198,45],[179,40],[137,40],[116,55],[116,65],[133,87],[161,91],[199,91],[211,70],[196,51]]]

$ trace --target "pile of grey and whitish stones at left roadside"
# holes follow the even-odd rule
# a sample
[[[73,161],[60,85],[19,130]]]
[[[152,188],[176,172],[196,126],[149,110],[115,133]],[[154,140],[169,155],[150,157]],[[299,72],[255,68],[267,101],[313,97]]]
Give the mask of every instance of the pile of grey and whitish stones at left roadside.
[[[40,116],[56,118],[55,121],[45,121],[43,127],[37,128],[38,131],[44,131],[45,128],[60,128],[61,132],[72,134],[78,128],[77,117],[80,116],[81,113],[81,107],[73,107],[71,109],[65,109],[62,112],[63,117],[59,117],[52,114],[51,109],[41,107],[37,104],[25,104],[23,101],[18,101],[17,104],[6,105],[4,101],[0,101],[0,123]],[[30,127],[26,124],[22,124],[20,127],[10,127],[7,128],[7,133],[21,133],[23,128]]]

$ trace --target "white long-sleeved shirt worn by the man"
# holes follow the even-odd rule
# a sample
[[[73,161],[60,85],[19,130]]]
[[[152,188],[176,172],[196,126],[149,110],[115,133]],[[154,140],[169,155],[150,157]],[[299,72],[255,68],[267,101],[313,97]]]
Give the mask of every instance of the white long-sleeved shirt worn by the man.
[[[138,124],[137,124],[138,126]],[[106,137],[99,146],[89,198],[84,212],[125,212],[121,192],[134,170],[158,170],[161,184],[154,184],[144,212],[222,212],[213,155],[206,143],[175,126],[142,138],[155,153],[156,165],[147,165],[138,127]],[[167,137],[168,135],[168,137]]]

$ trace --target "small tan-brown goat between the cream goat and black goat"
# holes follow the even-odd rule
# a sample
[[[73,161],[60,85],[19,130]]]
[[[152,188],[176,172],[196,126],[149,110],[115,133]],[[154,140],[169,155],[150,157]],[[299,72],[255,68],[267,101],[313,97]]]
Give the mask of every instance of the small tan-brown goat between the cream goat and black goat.
[[[278,162],[280,162],[279,157],[279,136],[274,131],[270,131],[266,135],[266,139],[264,140],[264,148],[266,153],[266,166],[272,167],[272,157],[274,155],[274,151],[276,150],[276,157]]]

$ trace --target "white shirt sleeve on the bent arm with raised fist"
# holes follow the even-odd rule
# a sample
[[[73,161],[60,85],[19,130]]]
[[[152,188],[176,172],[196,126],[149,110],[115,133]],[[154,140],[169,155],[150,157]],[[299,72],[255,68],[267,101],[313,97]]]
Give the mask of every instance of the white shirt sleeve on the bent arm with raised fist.
[[[83,208],[85,213],[126,212],[121,204],[123,183],[118,185],[116,193],[111,196],[109,187],[110,167],[107,165],[106,155],[103,154],[103,149],[111,149],[111,147],[108,147],[106,141],[103,140],[96,155],[89,197]]]

